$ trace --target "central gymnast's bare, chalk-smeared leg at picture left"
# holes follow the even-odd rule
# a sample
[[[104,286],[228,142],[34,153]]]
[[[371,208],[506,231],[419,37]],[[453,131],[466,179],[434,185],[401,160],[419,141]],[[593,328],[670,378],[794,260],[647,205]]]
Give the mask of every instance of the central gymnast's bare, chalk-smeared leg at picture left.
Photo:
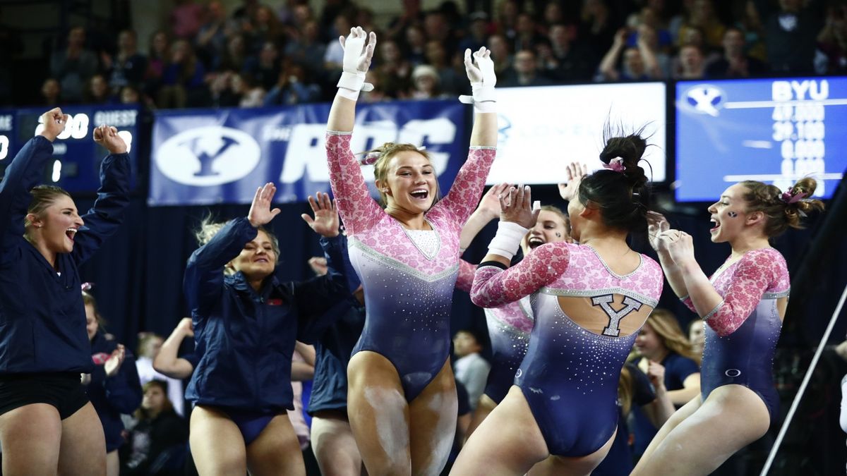
[[[368,474],[411,474],[409,407],[394,365],[376,352],[357,352],[347,381],[350,427]]]

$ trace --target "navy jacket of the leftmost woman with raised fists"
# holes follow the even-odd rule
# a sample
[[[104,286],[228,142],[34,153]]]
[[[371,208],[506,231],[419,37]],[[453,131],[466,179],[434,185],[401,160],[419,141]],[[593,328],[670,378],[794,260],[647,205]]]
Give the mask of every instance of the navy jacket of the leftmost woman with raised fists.
[[[90,374],[91,345],[77,268],[118,229],[129,205],[130,160],[110,155],[100,168],[97,201],[82,219],[74,251],[56,257],[56,273],[24,239],[32,196],[53,156],[42,136],[30,139],[0,183],[0,374]]]

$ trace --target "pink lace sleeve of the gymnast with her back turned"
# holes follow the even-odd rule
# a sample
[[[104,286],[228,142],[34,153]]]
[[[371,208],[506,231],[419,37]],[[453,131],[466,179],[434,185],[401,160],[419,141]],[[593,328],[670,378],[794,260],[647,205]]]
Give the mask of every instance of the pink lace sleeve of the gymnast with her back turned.
[[[566,243],[547,243],[529,252],[512,268],[480,266],[473,276],[471,301],[479,307],[500,307],[518,301],[555,281],[569,262]]]

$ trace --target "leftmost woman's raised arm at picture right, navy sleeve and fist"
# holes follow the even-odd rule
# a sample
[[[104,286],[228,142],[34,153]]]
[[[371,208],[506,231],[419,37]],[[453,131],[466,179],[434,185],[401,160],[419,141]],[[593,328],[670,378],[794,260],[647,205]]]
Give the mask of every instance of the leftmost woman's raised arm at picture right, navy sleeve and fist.
[[[108,125],[94,129],[94,141],[105,147],[109,155],[100,164],[97,200],[82,216],[85,226],[75,236],[71,256],[76,263],[85,262],[103,241],[118,230],[130,205],[131,170],[126,143],[118,135],[118,130]]]

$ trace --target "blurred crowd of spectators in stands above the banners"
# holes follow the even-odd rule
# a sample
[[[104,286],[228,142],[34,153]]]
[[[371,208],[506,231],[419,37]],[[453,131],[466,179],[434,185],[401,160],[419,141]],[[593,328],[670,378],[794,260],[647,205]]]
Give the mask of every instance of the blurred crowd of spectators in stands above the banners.
[[[261,107],[331,100],[340,35],[379,33],[366,102],[464,93],[462,54],[489,47],[498,86],[590,81],[838,75],[847,71],[847,6],[823,0],[404,0],[385,27],[365,3],[180,0],[149,39],[122,30],[95,49],[75,27],[49,58],[44,105]],[[279,4],[279,3],[277,3]],[[484,8],[490,10],[471,10]],[[463,7],[463,8],[462,8]],[[470,13],[462,14],[461,9]],[[100,35],[102,36],[102,35]]]

